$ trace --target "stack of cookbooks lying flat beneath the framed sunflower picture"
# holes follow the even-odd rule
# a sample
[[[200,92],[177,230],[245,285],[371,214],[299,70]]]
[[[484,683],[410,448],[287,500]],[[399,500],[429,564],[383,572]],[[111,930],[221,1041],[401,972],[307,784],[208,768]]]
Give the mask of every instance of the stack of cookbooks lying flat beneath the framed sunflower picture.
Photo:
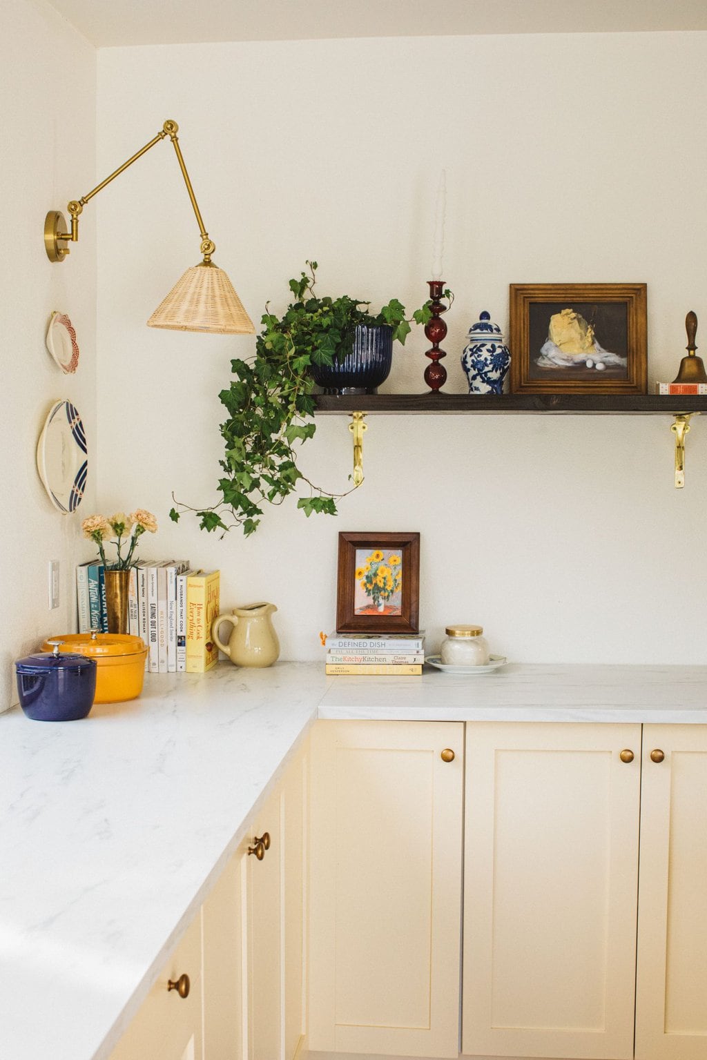
[[[425,661],[424,642],[424,632],[332,633],[326,637],[326,673],[416,677]]]

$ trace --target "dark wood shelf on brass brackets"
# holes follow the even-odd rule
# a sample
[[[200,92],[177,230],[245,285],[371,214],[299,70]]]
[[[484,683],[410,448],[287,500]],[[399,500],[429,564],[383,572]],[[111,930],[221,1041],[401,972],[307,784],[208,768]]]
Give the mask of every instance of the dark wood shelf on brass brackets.
[[[707,395],[690,394],[317,394],[319,414],[351,412],[409,413],[493,413],[549,412],[594,416],[678,416],[707,412]]]

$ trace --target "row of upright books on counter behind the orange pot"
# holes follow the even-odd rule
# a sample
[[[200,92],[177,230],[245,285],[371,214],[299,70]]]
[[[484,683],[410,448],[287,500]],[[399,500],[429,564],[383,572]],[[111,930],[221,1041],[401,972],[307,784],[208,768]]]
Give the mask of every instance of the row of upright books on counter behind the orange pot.
[[[218,661],[211,623],[219,612],[218,570],[187,560],[143,560],[130,568],[128,633],[148,647],[147,673],[206,673]],[[78,632],[108,632],[103,565],[76,567]]]

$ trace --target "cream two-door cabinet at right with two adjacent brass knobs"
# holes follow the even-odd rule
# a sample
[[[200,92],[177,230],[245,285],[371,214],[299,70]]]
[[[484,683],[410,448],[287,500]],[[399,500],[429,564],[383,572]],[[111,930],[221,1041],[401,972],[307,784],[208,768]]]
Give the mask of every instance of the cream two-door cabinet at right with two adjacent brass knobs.
[[[464,1054],[707,1060],[707,726],[469,725],[463,968]]]

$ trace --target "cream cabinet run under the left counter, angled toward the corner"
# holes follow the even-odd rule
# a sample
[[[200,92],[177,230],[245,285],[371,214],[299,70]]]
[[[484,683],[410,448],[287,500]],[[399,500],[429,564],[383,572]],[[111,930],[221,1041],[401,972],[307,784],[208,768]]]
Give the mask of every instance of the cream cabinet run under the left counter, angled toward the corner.
[[[303,1034],[307,784],[303,749],[250,823],[110,1060],[293,1060]]]

